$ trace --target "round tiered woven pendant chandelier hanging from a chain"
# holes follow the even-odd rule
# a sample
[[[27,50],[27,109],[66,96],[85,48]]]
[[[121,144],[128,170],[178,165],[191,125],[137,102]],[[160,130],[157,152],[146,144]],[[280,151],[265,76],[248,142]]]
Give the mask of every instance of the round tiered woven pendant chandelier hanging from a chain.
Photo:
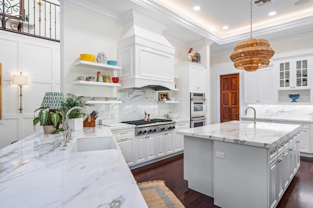
[[[250,1],[250,39],[240,42],[234,48],[230,59],[234,62],[236,69],[247,72],[256,71],[267,67],[269,59],[273,57],[274,51],[269,47],[266,39],[252,38],[252,0]]]

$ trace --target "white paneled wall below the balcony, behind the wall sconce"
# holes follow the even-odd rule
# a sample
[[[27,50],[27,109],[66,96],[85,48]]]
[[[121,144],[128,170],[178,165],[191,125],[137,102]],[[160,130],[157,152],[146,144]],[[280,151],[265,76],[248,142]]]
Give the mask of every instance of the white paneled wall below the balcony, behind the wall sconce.
[[[34,132],[34,111],[40,107],[45,92],[60,92],[60,43],[21,34],[0,31],[2,63],[2,108],[0,149]],[[22,87],[11,84],[14,74],[29,76],[30,83]],[[41,130],[37,126],[36,130]]]

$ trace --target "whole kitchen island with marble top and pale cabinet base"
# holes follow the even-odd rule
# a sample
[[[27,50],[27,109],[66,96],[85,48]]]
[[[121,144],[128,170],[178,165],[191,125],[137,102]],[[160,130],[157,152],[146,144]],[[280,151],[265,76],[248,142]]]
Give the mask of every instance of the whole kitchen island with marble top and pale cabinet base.
[[[300,166],[300,125],[230,121],[184,135],[188,188],[222,208],[274,208]]]

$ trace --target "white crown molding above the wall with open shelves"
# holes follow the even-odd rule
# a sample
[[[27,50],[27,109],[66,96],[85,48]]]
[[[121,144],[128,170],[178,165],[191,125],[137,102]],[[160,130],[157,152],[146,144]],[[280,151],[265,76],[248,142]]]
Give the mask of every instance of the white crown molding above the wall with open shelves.
[[[108,19],[118,24],[122,24],[122,17],[111,10],[99,7],[94,3],[86,0],[60,0],[60,4],[68,5],[76,9],[88,12],[89,14],[96,15],[103,19]]]

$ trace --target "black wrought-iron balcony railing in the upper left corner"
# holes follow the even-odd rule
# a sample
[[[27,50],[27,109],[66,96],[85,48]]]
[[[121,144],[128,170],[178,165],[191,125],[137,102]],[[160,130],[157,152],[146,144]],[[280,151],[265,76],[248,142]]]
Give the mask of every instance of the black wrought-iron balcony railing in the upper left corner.
[[[60,41],[57,0],[0,0],[1,29]]]

